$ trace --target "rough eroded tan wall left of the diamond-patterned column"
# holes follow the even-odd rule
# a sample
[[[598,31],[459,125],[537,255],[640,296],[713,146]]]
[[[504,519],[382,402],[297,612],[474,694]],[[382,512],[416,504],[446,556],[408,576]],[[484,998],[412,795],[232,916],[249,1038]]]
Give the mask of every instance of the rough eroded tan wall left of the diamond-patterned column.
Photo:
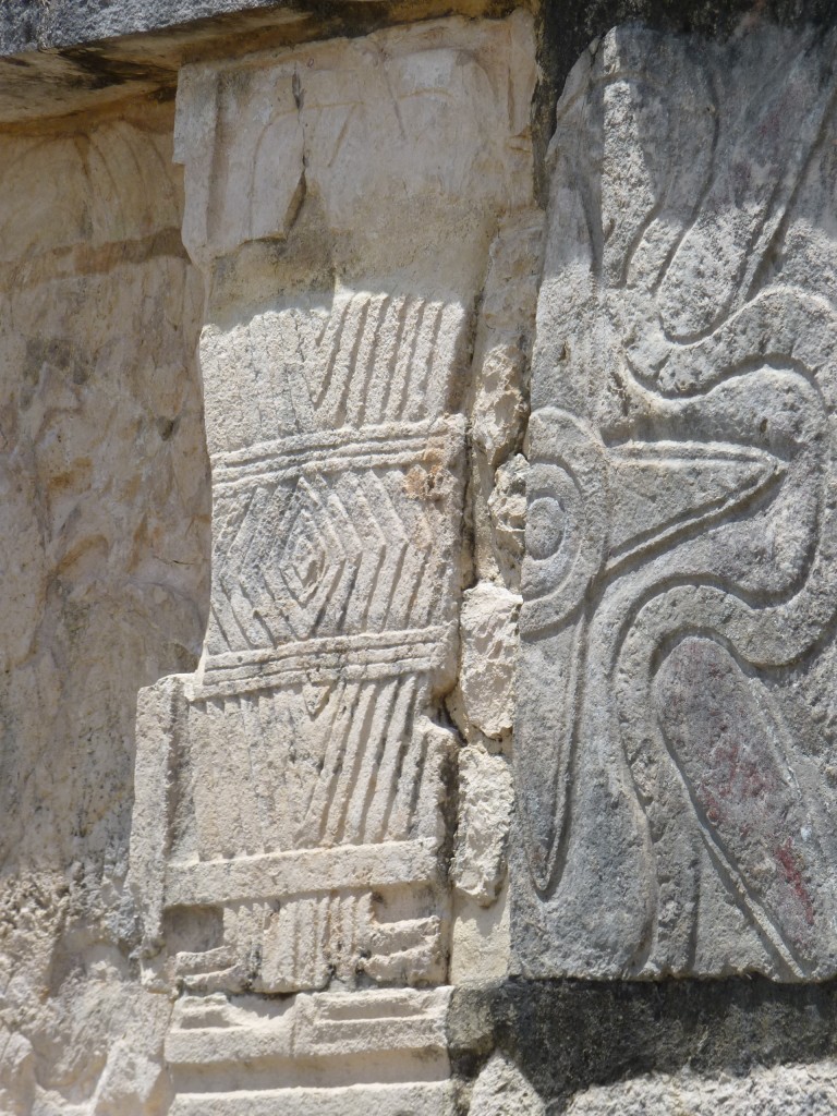
[[[4,1113],[126,1116],[160,1076],[169,1011],[133,982],[124,892],[136,687],[195,662],[209,589],[171,135],[141,104],[0,137]]]

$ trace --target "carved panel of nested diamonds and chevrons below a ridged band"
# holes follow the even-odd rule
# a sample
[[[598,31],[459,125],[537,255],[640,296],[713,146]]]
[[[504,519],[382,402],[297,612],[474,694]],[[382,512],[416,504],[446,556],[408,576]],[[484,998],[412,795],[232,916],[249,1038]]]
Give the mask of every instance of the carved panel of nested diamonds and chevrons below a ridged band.
[[[402,424],[387,434],[350,455],[344,445],[315,450],[311,461],[298,448],[290,468],[277,454],[257,478],[227,466],[217,487],[210,655],[407,631],[440,614],[450,571],[443,492],[433,485],[461,426]]]

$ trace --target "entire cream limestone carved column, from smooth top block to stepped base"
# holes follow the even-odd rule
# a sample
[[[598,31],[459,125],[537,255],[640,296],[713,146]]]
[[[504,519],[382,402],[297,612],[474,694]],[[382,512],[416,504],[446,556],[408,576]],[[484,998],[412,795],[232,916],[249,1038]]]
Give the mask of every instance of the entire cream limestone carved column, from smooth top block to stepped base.
[[[222,1080],[219,1112],[453,1103],[415,985],[446,978],[460,412],[492,238],[531,205],[532,59],[518,13],[183,74],[211,615],[199,671],[141,695],[132,834],[146,983],[187,993],[176,1112]],[[377,1058],[378,1018],[376,1077],[340,1036]]]

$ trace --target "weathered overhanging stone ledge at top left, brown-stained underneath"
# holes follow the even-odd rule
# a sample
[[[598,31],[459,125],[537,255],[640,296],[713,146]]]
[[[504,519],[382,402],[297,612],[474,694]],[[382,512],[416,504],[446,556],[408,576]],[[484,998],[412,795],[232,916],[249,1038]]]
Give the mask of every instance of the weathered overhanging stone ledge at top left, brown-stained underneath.
[[[0,126],[88,112],[126,96],[174,96],[181,67],[517,0],[4,0]]]

